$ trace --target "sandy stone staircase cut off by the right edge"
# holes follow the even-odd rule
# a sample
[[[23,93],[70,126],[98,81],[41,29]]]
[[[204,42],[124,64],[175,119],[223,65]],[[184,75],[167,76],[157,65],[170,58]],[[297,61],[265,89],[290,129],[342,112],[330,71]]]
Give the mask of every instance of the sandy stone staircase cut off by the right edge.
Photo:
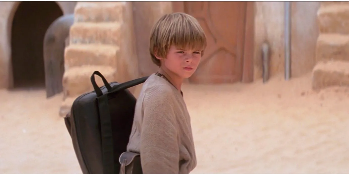
[[[349,2],[321,2],[312,88],[349,86]]]

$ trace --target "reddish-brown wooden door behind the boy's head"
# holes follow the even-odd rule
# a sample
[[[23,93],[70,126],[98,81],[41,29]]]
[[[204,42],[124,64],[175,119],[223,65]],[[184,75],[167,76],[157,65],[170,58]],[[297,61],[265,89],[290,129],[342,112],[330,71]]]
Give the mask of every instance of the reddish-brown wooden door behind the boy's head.
[[[213,84],[241,81],[246,2],[184,1],[183,10],[198,19],[207,38],[201,63],[189,81]]]

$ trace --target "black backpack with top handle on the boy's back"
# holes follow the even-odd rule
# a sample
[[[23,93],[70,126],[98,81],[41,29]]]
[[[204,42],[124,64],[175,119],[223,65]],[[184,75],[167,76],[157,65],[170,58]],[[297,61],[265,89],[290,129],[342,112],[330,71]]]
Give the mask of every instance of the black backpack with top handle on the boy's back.
[[[104,86],[97,86],[95,75],[102,78]],[[92,73],[95,90],[77,97],[64,118],[83,174],[119,173],[119,156],[126,151],[136,105],[127,88],[147,78],[109,84],[100,72]]]

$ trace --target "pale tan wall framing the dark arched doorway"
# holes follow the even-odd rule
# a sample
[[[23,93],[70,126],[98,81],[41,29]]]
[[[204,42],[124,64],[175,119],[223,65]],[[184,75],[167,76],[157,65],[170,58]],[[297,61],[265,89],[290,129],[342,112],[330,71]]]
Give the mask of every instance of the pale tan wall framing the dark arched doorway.
[[[74,13],[76,1],[57,1],[64,14]],[[0,88],[12,85],[10,36],[12,19],[20,1],[0,2]]]

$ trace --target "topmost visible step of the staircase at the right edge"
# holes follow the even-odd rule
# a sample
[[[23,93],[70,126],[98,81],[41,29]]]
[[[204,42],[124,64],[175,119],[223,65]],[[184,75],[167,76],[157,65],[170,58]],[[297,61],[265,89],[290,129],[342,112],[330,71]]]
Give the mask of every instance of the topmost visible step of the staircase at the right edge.
[[[318,23],[320,33],[349,34],[349,4],[320,6]]]

